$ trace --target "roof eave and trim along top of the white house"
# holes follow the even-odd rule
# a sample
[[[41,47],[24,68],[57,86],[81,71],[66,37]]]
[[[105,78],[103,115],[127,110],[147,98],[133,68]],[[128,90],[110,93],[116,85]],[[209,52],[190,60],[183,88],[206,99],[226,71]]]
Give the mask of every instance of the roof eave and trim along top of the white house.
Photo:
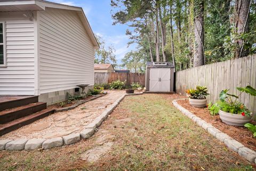
[[[82,7],[58,4],[58,3],[48,2],[44,0],[1,0],[0,1],[0,12],[43,11],[45,10],[46,7],[76,11],[84,25],[85,30],[87,31],[93,43],[93,46],[96,48],[99,48],[97,39],[93,34],[92,28],[84,14]]]

